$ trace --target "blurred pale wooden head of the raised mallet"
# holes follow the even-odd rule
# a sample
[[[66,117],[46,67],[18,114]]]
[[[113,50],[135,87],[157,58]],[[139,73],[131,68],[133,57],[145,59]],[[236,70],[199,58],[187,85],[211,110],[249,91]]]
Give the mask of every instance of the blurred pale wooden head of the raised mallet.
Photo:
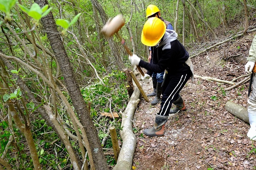
[[[125,25],[125,19],[121,14],[116,15],[116,17],[110,18],[108,22],[103,26],[101,32],[105,35],[105,37],[109,38],[114,35],[122,26]]]

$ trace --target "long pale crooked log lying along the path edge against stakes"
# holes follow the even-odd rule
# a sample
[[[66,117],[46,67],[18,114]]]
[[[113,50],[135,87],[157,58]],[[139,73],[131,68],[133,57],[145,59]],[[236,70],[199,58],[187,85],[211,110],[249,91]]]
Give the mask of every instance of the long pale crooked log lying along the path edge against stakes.
[[[122,113],[122,130],[120,136],[122,138],[122,148],[120,150],[116,166],[113,170],[131,170],[133,156],[136,148],[136,136],[133,132],[132,124],[134,112],[140,102],[140,90],[134,86],[134,92],[127,104],[125,111]]]

